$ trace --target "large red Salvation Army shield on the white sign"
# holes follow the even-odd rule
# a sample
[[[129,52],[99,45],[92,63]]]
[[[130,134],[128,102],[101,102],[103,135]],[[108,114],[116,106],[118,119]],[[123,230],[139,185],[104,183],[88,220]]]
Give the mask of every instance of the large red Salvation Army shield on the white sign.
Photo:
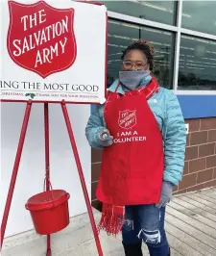
[[[74,9],[9,1],[9,11],[8,51],[15,64],[43,78],[74,64]]]

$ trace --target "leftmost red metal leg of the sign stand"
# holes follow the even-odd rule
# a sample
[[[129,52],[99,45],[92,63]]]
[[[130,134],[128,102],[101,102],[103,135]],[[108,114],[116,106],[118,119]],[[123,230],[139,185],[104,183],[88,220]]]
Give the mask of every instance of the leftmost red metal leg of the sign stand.
[[[15,181],[16,181],[16,177],[17,177],[17,173],[18,173],[21,155],[22,155],[23,144],[24,144],[25,137],[26,137],[26,131],[28,128],[29,116],[31,113],[31,109],[32,109],[32,101],[30,100],[30,101],[28,101],[28,103],[26,105],[26,111],[25,111],[25,115],[24,115],[24,119],[23,119],[23,123],[22,123],[22,129],[21,129],[18,147],[17,147],[17,151],[16,151],[16,156],[15,156],[15,161],[14,161],[14,165],[13,165],[13,169],[12,169],[12,179],[11,179],[9,192],[8,192],[8,196],[7,196],[7,200],[6,200],[6,205],[5,205],[5,211],[4,211],[4,215],[3,215],[2,223],[1,223],[1,248],[2,248],[3,241],[4,241],[4,237],[5,237],[5,230],[6,230],[6,226],[7,226],[7,222],[8,222],[8,218],[9,218],[9,212],[10,212],[11,204],[12,204],[12,195],[14,192]]]

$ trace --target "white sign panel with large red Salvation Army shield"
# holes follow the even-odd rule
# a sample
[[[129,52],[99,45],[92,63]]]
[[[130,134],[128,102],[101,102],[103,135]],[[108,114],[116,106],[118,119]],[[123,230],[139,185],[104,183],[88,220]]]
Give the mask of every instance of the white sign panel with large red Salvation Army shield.
[[[5,0],[2,13],[1,100],[105,102],[104,5]]]

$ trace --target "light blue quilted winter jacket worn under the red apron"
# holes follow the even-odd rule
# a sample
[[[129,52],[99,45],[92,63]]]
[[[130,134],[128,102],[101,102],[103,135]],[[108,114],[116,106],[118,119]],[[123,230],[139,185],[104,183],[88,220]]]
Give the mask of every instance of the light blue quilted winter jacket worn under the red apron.
[[[140,87],[145,87],[151,79],[151,76],[144,78]],[[118,80],[108,90],[115,91],[117,84]],[[125,93],[121,86],[117,92]],[[179,101],[172,90],[159,88],[158,92],[148,100],[148,103],[156,116],[163,138],[165,158],[163,179],[173,185],[178,185],[182,177],[186,145],[185,124]],[[85,128],[85,135],[90,146],[103,148],[98,141],[97,134],[104,127],[106,127],[104,105],[97,105]]]

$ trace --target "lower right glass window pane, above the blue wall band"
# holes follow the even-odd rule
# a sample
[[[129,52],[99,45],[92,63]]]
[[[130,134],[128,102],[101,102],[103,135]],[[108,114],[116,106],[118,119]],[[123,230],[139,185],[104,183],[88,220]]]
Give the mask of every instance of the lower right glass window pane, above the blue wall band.
[[[179,90],[216,90],[216,41],[182,35]]]

